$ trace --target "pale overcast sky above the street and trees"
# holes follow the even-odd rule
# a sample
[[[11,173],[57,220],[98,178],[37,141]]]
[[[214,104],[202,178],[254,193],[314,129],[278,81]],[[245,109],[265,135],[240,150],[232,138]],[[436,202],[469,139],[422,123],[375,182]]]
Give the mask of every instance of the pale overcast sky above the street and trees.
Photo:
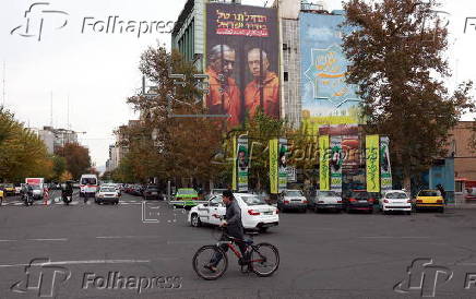
[[[140,37],[136,31],[120,34],[120,25],[115,27],[116,33],[110,33],[110,25],[106,34],[100,32],[102,24],[106,24],[108,16],[115,15],[119,16],[117,24],[120,21],[175,21],[186,0],[45,2],[49,4],[36,5],[27,14],[31,20],[28,32],[25,11],[35,1],[0,2],[0,79],[3,77],[4,61],[4,104],[26,125],[41,128],[50,124],[52,93],[52,124],[67,128],[69,98],[71,129],[86,132],[80,135],[80,142],[90,148],[93,162],[104,166],[108,158],[108,145],[115,141],[112,131],[129,119],[136,118],[126,98],[141,85],[138,70],[141,52],[157,43],[169,46],[170,35],[155,31]],[[254,5],[264,2],[242,1],[243,4]],[[330,10],[342,9],[338,0],[328,0],[326,3]],[[451,14],[449,29],[452,46],[448,57],[454,73],[449,84],[452,88],[456,81],[476,79],[476,1],[448,3],[443,10]],[[475,19],[467,22],[464,33],[466,17],[473,16]],[[0,86],[2,104],[3,84]],[[465,120],[471,119],[472,116],[465,117]]]

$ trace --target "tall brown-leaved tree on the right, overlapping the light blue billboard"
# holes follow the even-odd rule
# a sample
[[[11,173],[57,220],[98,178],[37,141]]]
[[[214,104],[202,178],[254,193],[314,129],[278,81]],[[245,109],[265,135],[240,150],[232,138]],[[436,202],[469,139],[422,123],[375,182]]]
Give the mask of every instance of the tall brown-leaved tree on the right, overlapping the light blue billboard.
[[[461,115],[474,109],[472,82],[450,94],[444,51],[448,31],[432,11],[436,0],[382,0],[344,4],[344,52],[352,62],[346,81],[357,84],[369,133],[389,135],[396,172],[410,178],[445,156],[447,135]]]

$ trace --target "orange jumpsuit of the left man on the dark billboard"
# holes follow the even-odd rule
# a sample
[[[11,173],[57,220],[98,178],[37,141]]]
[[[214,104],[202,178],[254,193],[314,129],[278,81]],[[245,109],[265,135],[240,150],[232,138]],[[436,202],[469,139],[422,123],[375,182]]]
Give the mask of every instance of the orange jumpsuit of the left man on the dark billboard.
[[[236,85],[235,79],[228,77],[227,84],[222,89],[222,82],[218,74],[212,69],[206,70],[209,75],[210,92],[206,95],[206,107],[212,115],[230,115],[228,127],[239,124],[241,112],[240,91]],[[222,103],[223,101],[223,103]],[[223,106],[222,106],[223,105]]]

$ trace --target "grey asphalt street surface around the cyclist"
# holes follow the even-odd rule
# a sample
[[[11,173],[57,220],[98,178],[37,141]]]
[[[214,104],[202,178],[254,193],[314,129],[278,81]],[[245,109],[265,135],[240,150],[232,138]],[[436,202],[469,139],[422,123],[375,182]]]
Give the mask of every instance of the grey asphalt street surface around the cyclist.
[[[181,210],[127,194],[119,205],[75,196],[64,206],[58,195],[46,205],[8,198],[1,206],[1,298],[476,297],[475,210],[279,214],[278,227],[254,237],[279,249],[272,277],[241,274],[228,255],[227,273],[206,282],[191,261],[216,242],[214,230],[190,227]],[[117,277],[128,286],[109,284]],[[153,277],[160,284],[148,284]]]

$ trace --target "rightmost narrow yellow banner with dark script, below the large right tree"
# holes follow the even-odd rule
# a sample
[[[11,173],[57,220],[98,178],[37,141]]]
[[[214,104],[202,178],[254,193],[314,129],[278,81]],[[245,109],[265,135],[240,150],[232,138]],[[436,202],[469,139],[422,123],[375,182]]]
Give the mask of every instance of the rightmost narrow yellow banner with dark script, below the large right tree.
[[[380,192],[379,145],[379,135],[366,136],[367,192]]]

